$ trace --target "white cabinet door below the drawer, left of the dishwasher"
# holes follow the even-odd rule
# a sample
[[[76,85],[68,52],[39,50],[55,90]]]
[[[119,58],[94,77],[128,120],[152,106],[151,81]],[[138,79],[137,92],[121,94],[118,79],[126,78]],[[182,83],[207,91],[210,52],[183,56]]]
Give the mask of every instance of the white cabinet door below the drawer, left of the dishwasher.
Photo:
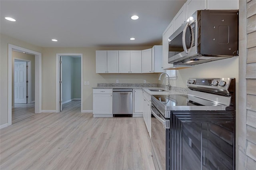
[[[93,95],[93,114],[113,114],[112,94]]]

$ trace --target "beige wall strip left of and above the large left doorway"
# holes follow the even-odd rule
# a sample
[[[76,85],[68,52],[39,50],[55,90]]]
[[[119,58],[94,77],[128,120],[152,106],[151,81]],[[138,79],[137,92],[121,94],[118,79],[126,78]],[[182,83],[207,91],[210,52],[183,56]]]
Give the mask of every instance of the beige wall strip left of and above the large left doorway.
[[[8,43],[42,52],[41,47],[0,34],[0,125],[8,123]]]

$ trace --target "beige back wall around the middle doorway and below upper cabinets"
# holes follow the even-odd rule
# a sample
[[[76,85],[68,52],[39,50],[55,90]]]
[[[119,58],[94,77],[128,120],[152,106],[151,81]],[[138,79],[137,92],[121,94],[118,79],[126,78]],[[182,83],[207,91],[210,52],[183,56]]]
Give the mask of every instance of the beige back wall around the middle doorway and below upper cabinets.
[[[158,73],[151,74],[97,74],[96,50],[141,50],[150,47],[81,47],[43,48],[42,50],[42,110],[56,110],[56,53],[82,53],[83,79],[90,85],[83,85],[83,110],[92,110],[92,87],[97,83],[158,83]]]

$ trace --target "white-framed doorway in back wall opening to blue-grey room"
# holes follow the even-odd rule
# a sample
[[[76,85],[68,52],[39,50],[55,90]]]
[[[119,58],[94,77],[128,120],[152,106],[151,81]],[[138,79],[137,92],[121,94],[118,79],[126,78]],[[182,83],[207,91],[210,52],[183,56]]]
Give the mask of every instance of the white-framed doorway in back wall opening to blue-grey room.
[[[80,101],[81,112],[83,103],[83,57],[81,53],[58,53],[56,54],[56,111],[60,112],[62,105]]]

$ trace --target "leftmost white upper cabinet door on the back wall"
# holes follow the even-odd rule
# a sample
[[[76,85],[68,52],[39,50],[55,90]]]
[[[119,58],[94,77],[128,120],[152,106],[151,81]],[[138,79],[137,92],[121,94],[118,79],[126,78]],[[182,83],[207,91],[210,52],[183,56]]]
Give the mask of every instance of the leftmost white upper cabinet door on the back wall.
[[[96,73],[107,73],[107,51],[96,51]]]

